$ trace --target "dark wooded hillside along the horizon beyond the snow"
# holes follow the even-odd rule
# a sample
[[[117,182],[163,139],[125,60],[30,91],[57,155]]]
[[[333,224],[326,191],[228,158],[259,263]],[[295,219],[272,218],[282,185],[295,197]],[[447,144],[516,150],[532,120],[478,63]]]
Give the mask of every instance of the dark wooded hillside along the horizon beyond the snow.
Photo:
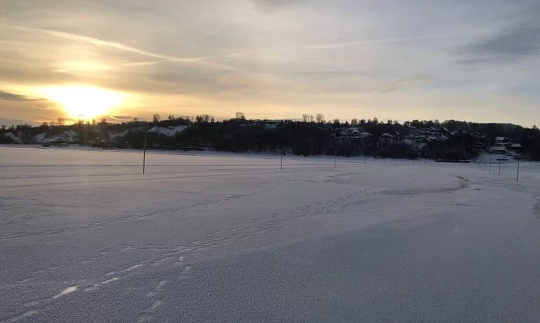
[[[163,133],[183,126],[175,134]],[[185,129],[184,129],[185,128]],[[351,132],[354,130],[355,133]],[[119,124],[80,122],[65,125],[58,120],[54,125],[18,125],[0,128],[0,143],[35,143],[40,136],[50,137],[76,133],[76,142],[100,142],[117,147],[142,149],[215,149],[227,152],[274,152],[298,155],[338,154],[341,156],[367,155],[381,158],[419,157],[429,159],[472,159],[479,154],[475,144],[489,147],[496,137],[507,137],[509,142],[522,144],[524,157],[540,160],[540,132],[536,127],[524,128],[511,124],[482,124],[447,120],[413,120],[399,123],[394,120],[379,122],[377,118],[341,122],[326,121],[323,115],[304,115],[301,121],[247,120],[237,112],[231,120],[217,121],[210,115],[163,119],[153,115],[151,121],[131,120]],[[367,133],[359,136],[360,132]],[[390,134],[392,139],[382,138]],[[411,144],[411,136],[441,137]],[[409,140],[409,141],[408,141]]]

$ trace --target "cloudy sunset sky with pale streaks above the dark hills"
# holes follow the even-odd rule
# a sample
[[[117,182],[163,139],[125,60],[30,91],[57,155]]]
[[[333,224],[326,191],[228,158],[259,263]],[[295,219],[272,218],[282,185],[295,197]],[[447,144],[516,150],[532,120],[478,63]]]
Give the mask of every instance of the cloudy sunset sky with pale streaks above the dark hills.
[[[536,0],[1,0],[0,124],[540,124]]]

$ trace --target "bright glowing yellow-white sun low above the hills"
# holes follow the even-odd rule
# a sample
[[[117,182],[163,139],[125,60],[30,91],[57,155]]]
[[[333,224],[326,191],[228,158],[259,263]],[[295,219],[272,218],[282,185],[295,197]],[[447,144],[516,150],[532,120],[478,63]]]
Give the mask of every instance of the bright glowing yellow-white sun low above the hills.
[[[85,85],[43,88],[41,94],[62,105],[72,119],[83,120],[109,114],[123,97],[119,92]]]

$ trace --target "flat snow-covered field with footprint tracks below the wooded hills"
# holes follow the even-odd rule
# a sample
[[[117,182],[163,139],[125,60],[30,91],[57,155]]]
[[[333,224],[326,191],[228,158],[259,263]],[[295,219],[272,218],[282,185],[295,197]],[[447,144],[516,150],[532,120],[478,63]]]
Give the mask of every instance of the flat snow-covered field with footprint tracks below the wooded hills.
[[[141,162],[0,147],[0,322],[540,317],[539,164]]]

